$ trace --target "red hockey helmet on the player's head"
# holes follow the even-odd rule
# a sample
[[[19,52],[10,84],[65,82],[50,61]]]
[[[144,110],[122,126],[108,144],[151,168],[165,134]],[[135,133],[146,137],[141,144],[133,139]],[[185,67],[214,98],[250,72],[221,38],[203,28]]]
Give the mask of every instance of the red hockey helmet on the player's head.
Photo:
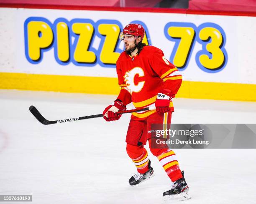
[[[141,36],[141,41],[145,35],[145,30],[141,24],[128,24],[124,27],[123,32],[120,33],[120,40],[123,40],[123,35],[134,35],[135,39]]]

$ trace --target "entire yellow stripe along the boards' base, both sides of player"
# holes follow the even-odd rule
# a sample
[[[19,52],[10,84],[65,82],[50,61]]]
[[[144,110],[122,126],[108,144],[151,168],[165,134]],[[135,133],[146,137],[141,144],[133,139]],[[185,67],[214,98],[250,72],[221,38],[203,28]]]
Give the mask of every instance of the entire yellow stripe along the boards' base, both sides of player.
[[[120,92],[117,78],[5,72],[0,72],[0,89],[112,95]],[[256,84],[182,81],[176,97],[256,102],[253,93],[256,93]]]

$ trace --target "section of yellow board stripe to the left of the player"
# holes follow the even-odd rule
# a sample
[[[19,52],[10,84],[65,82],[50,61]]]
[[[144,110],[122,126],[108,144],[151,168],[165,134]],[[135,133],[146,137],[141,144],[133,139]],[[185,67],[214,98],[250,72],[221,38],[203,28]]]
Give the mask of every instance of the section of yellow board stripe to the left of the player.
[[[120,92],[117,78],[4,72],[0,72],[0,89],[117,95]]]

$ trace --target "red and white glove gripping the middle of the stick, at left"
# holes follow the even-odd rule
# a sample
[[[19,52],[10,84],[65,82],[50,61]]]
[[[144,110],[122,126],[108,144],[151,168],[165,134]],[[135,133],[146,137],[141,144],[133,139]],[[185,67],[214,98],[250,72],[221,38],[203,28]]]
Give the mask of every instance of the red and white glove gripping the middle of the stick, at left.
[[[123,105],[123,102],[115,100],[113,105],[109,105],[105,108],[102,113],[104,115],[103,118],[108,122],[118,120],[122,114],[118,115],[116,112],[124,110],[126,110],[126,106]]]

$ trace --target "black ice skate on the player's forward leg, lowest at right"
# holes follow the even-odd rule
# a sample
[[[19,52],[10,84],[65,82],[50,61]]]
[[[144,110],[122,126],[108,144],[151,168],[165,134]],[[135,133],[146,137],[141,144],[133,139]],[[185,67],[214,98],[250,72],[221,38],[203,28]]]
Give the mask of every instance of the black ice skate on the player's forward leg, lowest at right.
[[[183,172],[182,172],[183,173]],[[183,176],[183,174],[182,174]],[[188,194],[189,187],[184,178],[178,179],[173,183],[172,188],[169,191],[163,193],[164,200],[170,199],[188,200],[191,198]]]

